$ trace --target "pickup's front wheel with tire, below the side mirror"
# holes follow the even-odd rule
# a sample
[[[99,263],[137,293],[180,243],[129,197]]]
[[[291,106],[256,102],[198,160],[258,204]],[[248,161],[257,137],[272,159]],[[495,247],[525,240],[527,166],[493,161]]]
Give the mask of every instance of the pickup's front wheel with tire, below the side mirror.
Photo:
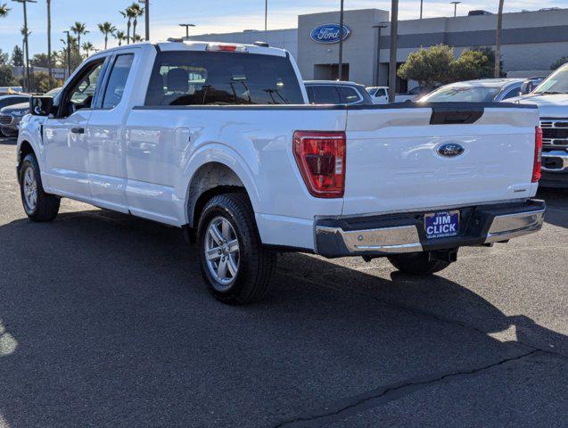
[[[60,199],[45,193],[39,165],[33,153],[27,154],[21,162],[20,193],[24,210],[33,221],[52,221],[57,216]]]

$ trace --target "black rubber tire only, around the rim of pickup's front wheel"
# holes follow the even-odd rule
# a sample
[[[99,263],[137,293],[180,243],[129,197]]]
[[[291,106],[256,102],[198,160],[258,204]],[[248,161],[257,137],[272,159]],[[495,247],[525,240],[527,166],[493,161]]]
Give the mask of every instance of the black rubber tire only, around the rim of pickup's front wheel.
[[[37,202],[35,206],[29,205],[24,195],[26,171],[28,169],[33,170],[33,176],[36,180],[37,185]],[[54,194],[45,193],[44,186],[41,182],[41,174],[39,173],[39,164],[37,163],[36,156],[33,153],[27,154],[24,160],[21,161],[20,193],[21,203],[24,206],[26,214],[31,220],[44,222],[52,221],[55,217],[57,217],[57,213],[59,212],[60,198],[55,196]]]

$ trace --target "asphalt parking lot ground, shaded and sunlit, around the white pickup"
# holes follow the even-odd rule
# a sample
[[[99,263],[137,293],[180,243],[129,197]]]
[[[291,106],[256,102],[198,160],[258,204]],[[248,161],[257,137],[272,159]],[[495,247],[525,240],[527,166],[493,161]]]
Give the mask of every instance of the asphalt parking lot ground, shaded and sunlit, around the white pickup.
[[[0,139],[0,427],[568,424],[568,192],[547,222],[416,280],[284,254],[210,297],[175,228],[65,200],[25,218]]]

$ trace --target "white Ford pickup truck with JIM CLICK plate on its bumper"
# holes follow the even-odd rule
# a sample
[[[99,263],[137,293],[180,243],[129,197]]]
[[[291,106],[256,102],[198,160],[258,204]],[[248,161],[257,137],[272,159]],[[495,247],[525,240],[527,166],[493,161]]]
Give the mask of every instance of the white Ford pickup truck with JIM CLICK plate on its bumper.
[[[18,178],[32,220],[60,198],[185,227],[222,301],[265,292],[277,251],[388,257],[428,275],[457,249],[539,230],[539,115],[487,104],[309,105],[288,53],[142,43],[34,96]]]

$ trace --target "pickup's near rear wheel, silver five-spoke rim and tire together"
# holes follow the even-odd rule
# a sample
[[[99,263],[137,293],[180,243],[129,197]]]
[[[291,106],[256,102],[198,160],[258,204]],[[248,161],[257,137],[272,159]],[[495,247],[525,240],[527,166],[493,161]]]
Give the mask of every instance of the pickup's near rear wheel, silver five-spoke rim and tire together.
[[[264,295],[276,255],[260,243],[246,194],[211,198],[202,210],[197,238],[202,276],[218,300],[244,304]]]

